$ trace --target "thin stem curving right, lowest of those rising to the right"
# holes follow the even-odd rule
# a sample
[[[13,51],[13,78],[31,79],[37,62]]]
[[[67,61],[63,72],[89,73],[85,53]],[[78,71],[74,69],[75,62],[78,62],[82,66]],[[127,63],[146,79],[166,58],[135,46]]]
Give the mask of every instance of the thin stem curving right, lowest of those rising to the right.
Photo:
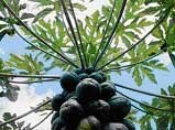
[[[156,57],[157,55],[160,55],[160,54],[162,54],[162,53],[163,53],[163,51],[160,51],[160,52],[156,53],[155,55],[152,55],[152,56],[150,56],[150,57],[147,57],[147,58],[145,58],[145,59],[139,61],[139,62],[136,62],[136,63],[133,63],[133,64],[130,64],[130,65],[123,65],[123,66],[119,66],[119,67],[113,67],[113,68],[109,68],[109,69],[105,69],[105,71],[102,71],[102,72],[108,72],[108,71],[110,71],[110,72],[113,72],[113,71],[125,71],[125,69],[132,68],[133,66],[135,66],[135,65],[138,65],[138,64],[145,63],[146,61],[150,61],[150,59]]]

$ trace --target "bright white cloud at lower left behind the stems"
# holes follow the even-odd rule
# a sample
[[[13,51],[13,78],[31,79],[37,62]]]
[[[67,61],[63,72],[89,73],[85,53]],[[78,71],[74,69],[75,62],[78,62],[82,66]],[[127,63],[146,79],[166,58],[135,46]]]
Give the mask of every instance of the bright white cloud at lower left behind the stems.
[[[46,97],[52,97],[53,91],[50,90],[46,94],[37,95],[35,93],[35,88],[32,86],[20,85],[19,99],[15,102],[11,102],[6,98],[0,98],[0,116],[3,112],[17,113],[18,116],[31,110],[30,107],[35,107],[37,104],[42,102]],[[40,120],[42,120],[46,115],[40,116],[41,113],[31,113],[25,118],[22,118],[19,121],[25,121],[25,124],[31,123],[31,126],[36,124]],[[52,116],[45,120],[40,127],[39,130],[50,130],[51,129],[51,118]]]

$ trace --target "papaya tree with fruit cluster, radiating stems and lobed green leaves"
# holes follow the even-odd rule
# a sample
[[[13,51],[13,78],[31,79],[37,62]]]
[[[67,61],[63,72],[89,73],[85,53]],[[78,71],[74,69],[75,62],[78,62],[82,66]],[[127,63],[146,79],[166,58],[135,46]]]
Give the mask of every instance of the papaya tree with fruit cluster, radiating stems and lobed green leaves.
[[[6,112],[0,128],[32,130],[53,115],[53,130],[134,130],[134,124],[141,130],[174,130],[175,85],[161,94],[141,88],[144,80],[158,83],[155,71],[168,72],[160,55],[167,54],[175,67],[175,1],[106,0],[90,14],[77,15],[88,10],[87,3],[98,0],[0,0],[0,41],[18,35],[28,45],[26,53],[0,57],[0,97],[18,100],[20,87],[12,83],[53,82],[63,88],[26,113]],[[31,4],[36,12],[26,10]],[[138,88],[111,80],[123,72]],[[17,77],[25,80],[15,82]],[[118,88],[153,98],[141,101]],[[18,122],[46,110],[35,126]]]

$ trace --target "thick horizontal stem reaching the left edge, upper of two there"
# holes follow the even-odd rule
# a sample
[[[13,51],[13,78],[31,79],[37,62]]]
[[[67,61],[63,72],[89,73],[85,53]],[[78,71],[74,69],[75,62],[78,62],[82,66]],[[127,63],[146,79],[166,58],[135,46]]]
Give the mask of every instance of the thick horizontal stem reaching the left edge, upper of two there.
[[[56,75],[17,75],[17,74],[7,74],[0,73],[0,77],[29,77],[29,78],[56,78],[59,79],[61,76]]]

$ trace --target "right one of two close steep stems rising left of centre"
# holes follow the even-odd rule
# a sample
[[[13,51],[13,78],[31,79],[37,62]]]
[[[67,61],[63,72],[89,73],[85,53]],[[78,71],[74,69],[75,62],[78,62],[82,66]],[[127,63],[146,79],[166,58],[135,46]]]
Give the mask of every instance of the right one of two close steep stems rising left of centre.
[[[73,8],[72,0],[69,0],[69,6],[70,6],[70,9],[72,9],[72,11],[73,11],[73,18],[74,18],[75,25],[76,25],[76,29],[77,29],[77,33],[78,33],[78,37],[79,37],[79,43],[80,43],[80,48],[81,48],[81,51],[83,51],[83,55],[84,55],[84,59],[85,59],[85,65],[86,65],[86,67],[87,67],[87,66],[88,66],[88,63],[87,63],[87,58],[86,58],[85,47],[84,47],[83,40],[81,40],[81,36],[80,36],[80,31],[79,31],[79,28],[78,28],[77,19],[76,19],[76,17],[75,17],[75,12],[74,12],[74,8]]]

